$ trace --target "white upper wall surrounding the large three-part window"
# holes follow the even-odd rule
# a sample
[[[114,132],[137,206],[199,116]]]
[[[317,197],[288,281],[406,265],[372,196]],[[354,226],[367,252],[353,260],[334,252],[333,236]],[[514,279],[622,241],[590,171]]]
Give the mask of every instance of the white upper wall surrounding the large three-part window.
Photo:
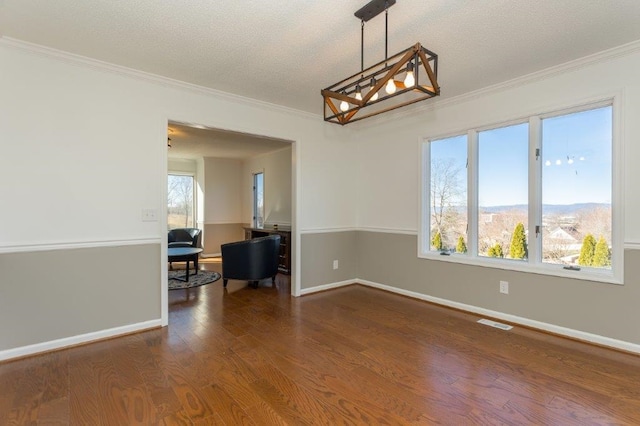
[[[625,243],[640,244],[640,44],[605,52],[495,90],[396,114],[358,134],[358,226],[417,233],[420,143],[476,126],[620,95]],[[446,88],[443,88],[446,90]]]

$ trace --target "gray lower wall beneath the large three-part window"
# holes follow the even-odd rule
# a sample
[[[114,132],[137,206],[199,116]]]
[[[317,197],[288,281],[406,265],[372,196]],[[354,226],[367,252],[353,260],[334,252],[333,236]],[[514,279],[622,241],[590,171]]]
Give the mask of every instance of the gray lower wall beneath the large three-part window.
[[[625,285],[616,285],[420,259],[417,244],[415,235],[358,231],[356,276],[640,344],[640,250],[625,250]],[[508,295],[500,280],[509,281]]]

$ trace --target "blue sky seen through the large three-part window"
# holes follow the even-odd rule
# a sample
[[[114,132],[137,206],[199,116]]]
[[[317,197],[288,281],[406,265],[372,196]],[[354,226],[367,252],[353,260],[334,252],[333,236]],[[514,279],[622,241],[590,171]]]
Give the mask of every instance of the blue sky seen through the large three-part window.
[[[612,109],[542,121],[543,204],[610,203]],[[480,132],[481,206],[528,203],[528,124]],[[453,159],[466,184],[466,135],[431,144],[431,158]]]

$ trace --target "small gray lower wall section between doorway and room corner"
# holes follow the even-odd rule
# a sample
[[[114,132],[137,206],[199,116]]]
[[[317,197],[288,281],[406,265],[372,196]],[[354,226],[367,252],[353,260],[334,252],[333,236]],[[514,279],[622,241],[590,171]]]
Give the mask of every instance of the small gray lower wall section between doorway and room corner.
[[[356,277],[356,231],[300,236],[301,289],[352,280]],[[333,261],[338,269],[333,269]]]

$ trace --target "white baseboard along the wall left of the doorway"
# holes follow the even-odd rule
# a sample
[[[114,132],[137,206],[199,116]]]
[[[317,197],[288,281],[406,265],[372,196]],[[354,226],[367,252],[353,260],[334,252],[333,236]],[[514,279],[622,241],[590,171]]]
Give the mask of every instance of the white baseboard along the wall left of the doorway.
[[[80,345],[83,343],[89,343],[96,340],[108,339],[111,337],[117,337],[124,334],[130,334],[142,330],[148,330],[150,328],[160,327],[161,322],[159,319],[139,322],[136,324],[124,325],[121,327],[109,328],[107,330],[94,331],[91,333],[80,334],[78,336],[65,337],[62,339],[51,340],[43,343],[36,343],[34,345],[22,346],[14,349],[7,349],[0,351],[0,361],[5,361],[13,358],[20,358],[23,356],[34,355],[41,352],[53,351],[69,346]]]

